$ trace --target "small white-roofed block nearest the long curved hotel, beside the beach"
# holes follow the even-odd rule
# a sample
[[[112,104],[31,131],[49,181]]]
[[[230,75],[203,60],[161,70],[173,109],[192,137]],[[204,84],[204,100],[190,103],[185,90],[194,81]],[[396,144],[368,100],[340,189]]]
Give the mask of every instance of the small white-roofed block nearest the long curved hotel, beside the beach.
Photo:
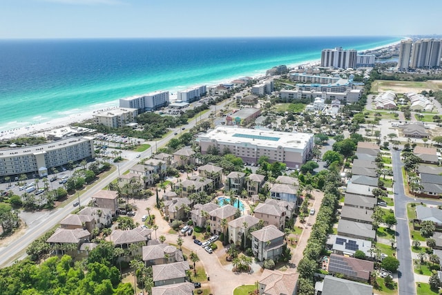
[[[118,128],[128,123],[135,122],[138,115],[137,108],[114,108],[110,111],[96,113],[93,115],[97,124],[103,124],[111,128]]]

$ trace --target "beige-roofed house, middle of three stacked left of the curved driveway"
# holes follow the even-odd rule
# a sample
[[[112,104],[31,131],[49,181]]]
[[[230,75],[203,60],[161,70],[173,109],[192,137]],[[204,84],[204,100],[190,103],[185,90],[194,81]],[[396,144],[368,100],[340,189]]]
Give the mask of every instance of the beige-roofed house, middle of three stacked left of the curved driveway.
[[[186,282],[186,271],[189,270],[189,263],[181,261],[164,265],[153,265],[153,286],[164,286]]]

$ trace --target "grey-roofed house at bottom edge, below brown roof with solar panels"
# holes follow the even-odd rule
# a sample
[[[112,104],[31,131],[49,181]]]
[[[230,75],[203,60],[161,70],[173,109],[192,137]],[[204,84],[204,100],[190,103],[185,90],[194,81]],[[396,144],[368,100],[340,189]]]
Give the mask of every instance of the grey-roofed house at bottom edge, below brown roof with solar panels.
[[[322,282],[316,282],[315,295],[373,295],[373,286],[363,283],[325,276]]]

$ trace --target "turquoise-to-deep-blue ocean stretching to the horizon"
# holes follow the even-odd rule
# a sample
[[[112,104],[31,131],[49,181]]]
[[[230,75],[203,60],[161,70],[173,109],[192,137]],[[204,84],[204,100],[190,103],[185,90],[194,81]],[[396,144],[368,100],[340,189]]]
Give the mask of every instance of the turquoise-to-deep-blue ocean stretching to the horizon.
[[[152,91],[171,93],[320,59],[323,48],[367,50],[401,37],[0,40],[0,131]]]

